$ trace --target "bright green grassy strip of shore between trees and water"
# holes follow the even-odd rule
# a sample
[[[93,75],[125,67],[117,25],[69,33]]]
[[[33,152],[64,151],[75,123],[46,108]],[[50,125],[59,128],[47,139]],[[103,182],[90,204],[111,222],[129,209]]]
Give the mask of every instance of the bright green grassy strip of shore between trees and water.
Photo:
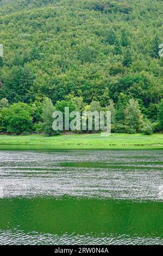
[[[0,136],[0,149],[163,149],[163,135],[128,135],[112,133],[108,137],[93,135]]]

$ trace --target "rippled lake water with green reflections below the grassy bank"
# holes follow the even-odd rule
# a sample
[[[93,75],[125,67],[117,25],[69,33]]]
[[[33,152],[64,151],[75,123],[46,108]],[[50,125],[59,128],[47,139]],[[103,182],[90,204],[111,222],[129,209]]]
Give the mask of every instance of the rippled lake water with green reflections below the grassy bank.
[[[1,245],[163,245],[163,151],[0,151]]]

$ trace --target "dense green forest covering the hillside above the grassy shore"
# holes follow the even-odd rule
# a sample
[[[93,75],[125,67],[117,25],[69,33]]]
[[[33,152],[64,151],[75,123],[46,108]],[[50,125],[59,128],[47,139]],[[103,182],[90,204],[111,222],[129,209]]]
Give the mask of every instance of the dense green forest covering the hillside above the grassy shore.
[[[2,0],[0,132],[53,135],[65,106],[111,111],[112,132],[162,132],[162,10],[162,0]]]

